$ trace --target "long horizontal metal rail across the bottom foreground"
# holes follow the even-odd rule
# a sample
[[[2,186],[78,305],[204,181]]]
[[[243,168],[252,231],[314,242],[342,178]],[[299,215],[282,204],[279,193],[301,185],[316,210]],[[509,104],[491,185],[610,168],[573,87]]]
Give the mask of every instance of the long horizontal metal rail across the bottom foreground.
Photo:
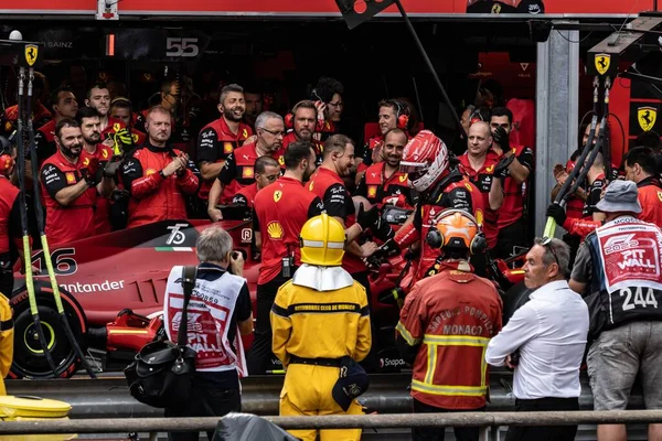
[[[397,413],[325,417],[265,417],[282,429],[396,429],[414,427],[481,427],[481,439],[502,426],[574,426],[662,422],[662,410]],[[214,430],[218,418],[143,418],[61,421],[10,421],[0,434],[126,433]]]

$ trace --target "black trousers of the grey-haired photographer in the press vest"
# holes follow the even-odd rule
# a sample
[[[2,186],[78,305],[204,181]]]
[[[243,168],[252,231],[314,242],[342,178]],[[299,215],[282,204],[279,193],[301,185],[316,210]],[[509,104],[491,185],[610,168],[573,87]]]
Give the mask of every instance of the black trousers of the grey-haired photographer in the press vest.
[[[166,409],[166,418],[178,417],[223,417],[229,412],[242,411],[239,389],[217,389],[207,385],[193,383],[191,397],[181,407]],[[214,431],[207,431],[207,439],[214,437]],[[197,441],[197,432],[170,432],[170,441]]]

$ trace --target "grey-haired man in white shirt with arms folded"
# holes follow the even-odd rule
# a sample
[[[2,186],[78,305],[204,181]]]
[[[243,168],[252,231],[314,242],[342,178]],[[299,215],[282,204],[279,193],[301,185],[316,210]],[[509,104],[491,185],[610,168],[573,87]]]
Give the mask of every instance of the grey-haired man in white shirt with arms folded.
[[[535,291],[488,345],[490,365],[515,369],[517,411],[579,409],[588,308],[566,281],[569,255],[562,240],[535,239],[524,265],[524,284]],[[505,440],[570,441],[576,434],[577,426],[511,427]]]

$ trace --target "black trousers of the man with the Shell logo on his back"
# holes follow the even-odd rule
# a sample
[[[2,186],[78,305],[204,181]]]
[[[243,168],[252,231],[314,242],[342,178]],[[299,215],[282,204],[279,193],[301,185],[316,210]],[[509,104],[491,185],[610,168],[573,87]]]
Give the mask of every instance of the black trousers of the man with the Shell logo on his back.
[[[289,279],[278,275],[268,282],[257,286],[255,332],[253,346],[250,346],[246,359],[249,375],[266,374],[271,363],[271,357],[274,357],[271,352],[271,306],[278,288]]]

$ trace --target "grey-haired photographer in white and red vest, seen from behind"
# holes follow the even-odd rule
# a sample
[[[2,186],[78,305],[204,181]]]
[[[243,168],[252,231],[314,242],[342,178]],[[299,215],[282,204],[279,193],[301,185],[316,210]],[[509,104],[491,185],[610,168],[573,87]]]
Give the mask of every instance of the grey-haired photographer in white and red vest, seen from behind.
[[[223,417],[242,410],[239,374],[246,361],[241,335],[253,332],[253,312],[244,259],[233,251],[229,234],[218,226],[203,230],[195,241],[200,265],[188,306],[188,345],[196,352],[195,377],[186,402],[167,408],[166,417]],[[163,323],[177,341],[183,308],[182,267],[170,271],[163,301]],[[212,439],[213,432],[207,432]],[[197,432],[169,433],[173,441],[197,440]]]

